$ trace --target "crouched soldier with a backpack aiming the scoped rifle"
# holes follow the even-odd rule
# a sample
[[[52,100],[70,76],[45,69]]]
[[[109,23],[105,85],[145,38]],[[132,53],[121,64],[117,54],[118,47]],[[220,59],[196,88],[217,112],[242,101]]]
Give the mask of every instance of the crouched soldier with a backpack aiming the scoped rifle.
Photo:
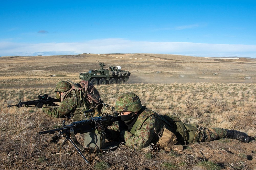
[[[81,87],[82,83],[86,89]],[[37,107],[42,107],[42,111],[46,112],[50,117],[71,118],[72,121],[86,120],[87,118],[100,116],[101,113],[114,108],[108,104],[103,103],[100,94],[93,84],[89,81],[81,81],[80,83],[71,84],[68,81],[60,81],[56,84],[54,92],[56,98],[60,99],[59,105],[48,106],[40,100],[36,100]],[[94,109],[93,113],[84,114],[84,111]]]

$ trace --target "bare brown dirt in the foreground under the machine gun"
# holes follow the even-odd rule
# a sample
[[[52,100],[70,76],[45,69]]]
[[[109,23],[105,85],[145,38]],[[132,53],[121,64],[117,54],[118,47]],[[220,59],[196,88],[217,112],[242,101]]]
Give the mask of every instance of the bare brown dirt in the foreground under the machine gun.
[[[49,122],[44,125],[47,124]],[[153,149],[135,151],[125,145],[119,145],[113,151],[84,151],[83,155],[89,161],[89,164],[86,164],[70,142],[66,142],[65,148],[58,152],[64,138],[59,138],[56,134],[38,135],[36,131],[31,131],[24,135],[24,138],[31,143],[26,145],[25,139],[24,143],[16,140],[1,141],[0,169],[101,169],[99,162],[102,161],[108,167],[103,169],[109,170],[256,168],[255,140],[242,143],[233,139],[221,139],[174,145],[178,146],[178,150],[173,149],[171,152],[154,146]],[[82,137],[78,136],[78,140],[81,139]],[[198,165],[204,161],[214,162],[219,168],[214,168],[214,165],[210,168]]]

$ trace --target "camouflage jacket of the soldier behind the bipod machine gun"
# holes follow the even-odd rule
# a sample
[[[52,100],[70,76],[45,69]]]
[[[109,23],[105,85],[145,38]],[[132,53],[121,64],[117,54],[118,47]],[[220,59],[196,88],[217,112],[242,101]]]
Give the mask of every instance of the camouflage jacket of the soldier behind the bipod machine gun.
[[[124,140],[125,145],[134,148],[142,149],[150,143],[156,143],[161,136],[162,129],[168,125],[161,121],[159,115],[152,110],[145,108],[138,116],[132,129],[122,130],[120,132],[118,122],[114,122],[109,126],[109,134],[107,139]],[[119,137],[119,138],[118,138]]]

